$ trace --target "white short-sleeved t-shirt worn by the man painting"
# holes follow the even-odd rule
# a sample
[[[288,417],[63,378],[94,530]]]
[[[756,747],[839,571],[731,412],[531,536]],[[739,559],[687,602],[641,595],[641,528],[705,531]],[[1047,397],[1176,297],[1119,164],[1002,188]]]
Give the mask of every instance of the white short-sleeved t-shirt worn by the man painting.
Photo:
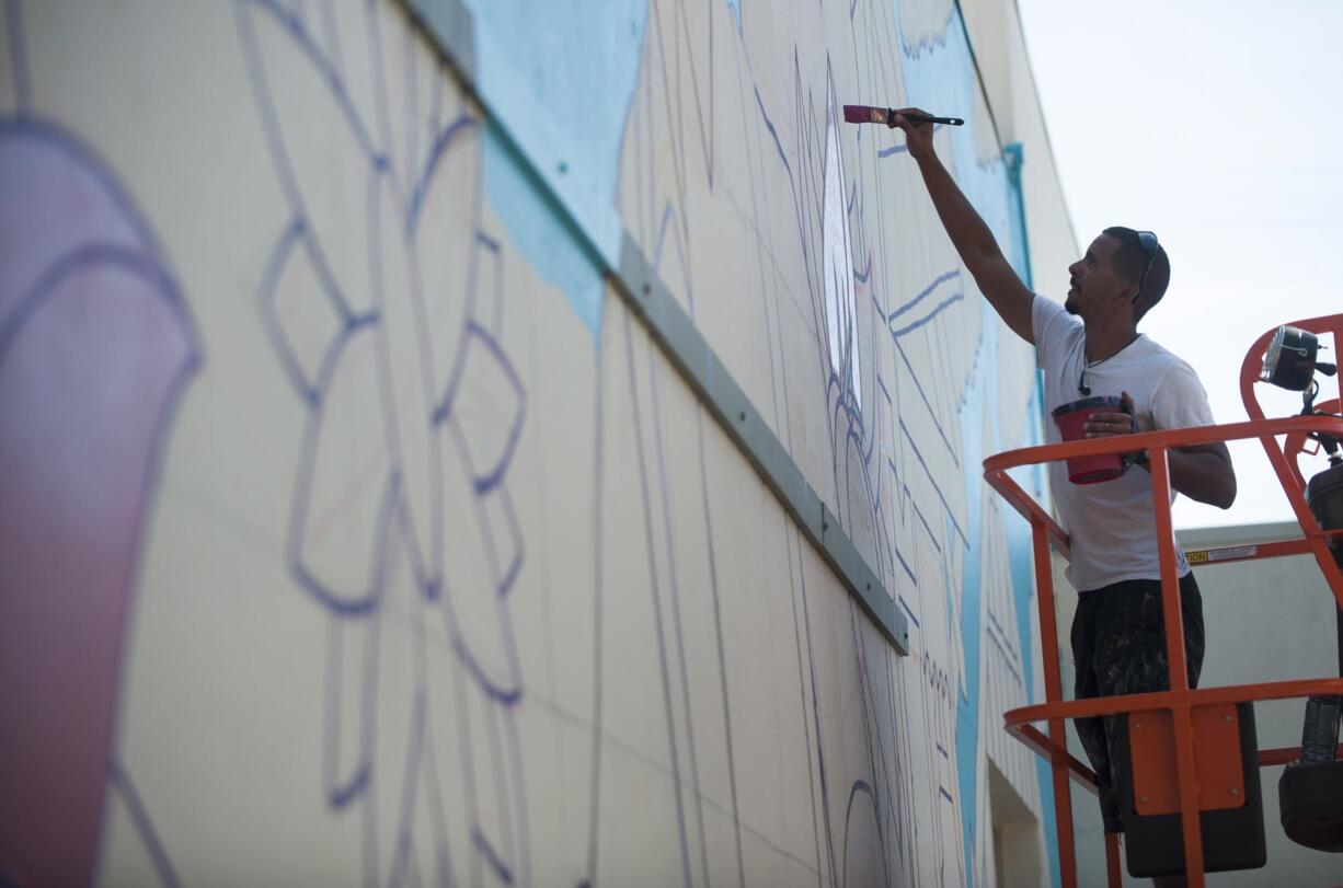
[[[1045,435],[1050,444],[1061,437],[1052,412],[1077,401],[1078,378],[1085,365],[1081,321],[1061,304],[1037,295],[1030,313],[1035,355],[1045,376]],[[1128,392],[1142,432],[1213,425],[1207,394],[1194,370],[1144,335],[1123,350],[1086,366],[1089,397]],[[1072,565],[1068,579],[1078,592],[1100,589],[1124,579],[1159,579],[1152,476],[1133,465],[1123,476],[1097,484],[1073,484],[1066,464],[1049,464],[1049,483],[1058,515],[1068,531]],[[1171,492],[1171,502],[1175,494]],[[1178,574],[1189,573],[1179,545]]]

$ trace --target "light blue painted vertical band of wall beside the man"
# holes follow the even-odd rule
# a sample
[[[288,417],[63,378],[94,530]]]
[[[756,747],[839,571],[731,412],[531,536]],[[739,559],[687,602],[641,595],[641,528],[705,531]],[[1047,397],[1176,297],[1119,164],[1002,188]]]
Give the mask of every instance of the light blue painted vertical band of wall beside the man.
[[[892,0],[897,36],[900,39],[900,64],[907,89],[907,102],[912,106],[927,109],[935,114],[951,114],[966,118],[964,127],[950,130],[951,157],[948,168],[966,196],[979,211],[984,221],[994,231],[1005,251],[1014,260],[1018,270],[1029,275],[1026,267],[1025,231],[1019,224],[1022,215],[1015,212],[1019,205],[1019,195],[1015,193],[1007,178],[1007,170],[1001,158],[980,161],[976,156],[975,107],[978,103],[978,75],[974,59],[970,55],[970,44],[966,38],[964,24],[960,15],[952,7],[944,32],[932,42],[920,40],[911,46],[905,39],[900,25],[898,0]],[[983,121],[987,125],[987,121]],[[896,154],[898,152],[889,152]],[[978,742],[979,742],[979,640],[983,634],[980,625],[982,610],[982,557],[983,557],[983,514],[980,508],[980,491],[983,479],[980,475],[984,457],[984,397],[992,390],[992,374],[998,365],[998,323],[992,309],[987,302],[982,303],[982,335],[979,353],[975,362],[975,372],[960,402],[960,431],[962,431],[962,467],[966,474],[967,514],[968,527],[966,529],[964,573],[960,589],[960,637],[964,651],[964,676],[956,706],[956,773],[960,790],[960,816],[964,837],[966,880],[974,884],[972,853],[975,846],[975,812],[976,805],[976,775],[978,775]],[[1037,396],[1038,398],[1038,392]],[[1035,404],[1038,409],[1038,404]],[[1007,408],[1005,408],[1007,409]],[[999,440],[998,414],[990,410],[991,427],[988,429],[988,445],[994,452],[1003,449]],[[1038,436],[1038,431],[1031,431]],[[1015,441],[1009,447],[1021,445]],[[1041,494],[1038,480],[1031,484]],[[1013,520],[1015,519],[1015,520]],[[1022,644],[1022,659],[1025,661],[1025,681],[1027,695],[1031,692],[1031,660],[1030,649],[1030,596],[1033,590],[1033,559],[1030,549],[1030,533],[1023,520],[1011,512],[1007,519],[1007,551],[1010,558],[1010,571],[1013,582],[1013,597],[1017,604],[1017,626]],[[1054,885],[1060,884],[1057,840],[1053,829],[1054,810],[1053,795],[1050,793],[1049,769],[1039,762],[1044,782],[1041,783],[1041,798],[1045,822],[1045,842],[1049,849],[1050,875]]]

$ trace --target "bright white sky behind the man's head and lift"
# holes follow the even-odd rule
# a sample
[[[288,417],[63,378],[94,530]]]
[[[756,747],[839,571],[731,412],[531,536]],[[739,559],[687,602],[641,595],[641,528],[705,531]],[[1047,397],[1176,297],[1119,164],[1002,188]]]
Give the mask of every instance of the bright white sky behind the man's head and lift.
[[[1112,224],[1156,232],[1171,286],[1140,329],[1194,366],[1218,423],[1248,419],[1253,341],[1343,311],[1343,1],[1018,5],[1078,240]],[[1320,400],[1338,394],[1320,382]],[[1269,416],[1300,410],[1299,394],[1256,388]],[[1232,456],[1236,506],[1180,498],[1178,527],[1292,519],[1261,445]],[[1309,478],[1326,461],[1301,465]]]

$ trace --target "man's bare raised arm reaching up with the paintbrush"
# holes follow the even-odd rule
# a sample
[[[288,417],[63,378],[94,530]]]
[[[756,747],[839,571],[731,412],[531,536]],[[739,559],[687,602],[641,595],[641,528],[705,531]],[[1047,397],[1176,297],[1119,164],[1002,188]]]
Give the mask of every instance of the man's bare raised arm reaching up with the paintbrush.
[[[924,114],[919,109],[902,110]],[[1030,327],[1030,303],[1034,295],[1017,276],[988,225],[966,200],[956,180],[937,160],[932,148],[932,123],[912,123],[897,111],[894,125],[904,130],[909,156],[919,164],[919,172],[928,188],[928,196],[932,197],[932,205],[937,208],[941,227],[947,229],[947,236],[960,254],[960,260],[979,284],[979,291],[1013,333],[1033,343],[1035,337]]]

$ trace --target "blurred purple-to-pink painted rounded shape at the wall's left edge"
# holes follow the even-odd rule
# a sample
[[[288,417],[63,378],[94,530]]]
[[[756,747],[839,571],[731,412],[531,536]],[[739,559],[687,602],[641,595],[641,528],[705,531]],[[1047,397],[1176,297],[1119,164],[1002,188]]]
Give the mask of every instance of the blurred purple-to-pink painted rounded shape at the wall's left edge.
[[[136,245],[134,228],[87,160],[32,141],[17,148],[46,157],[27,153],[0,205],[0,881],[89,884],[149,482],[192,341],[144,249],[48,276],[90,244]]]

